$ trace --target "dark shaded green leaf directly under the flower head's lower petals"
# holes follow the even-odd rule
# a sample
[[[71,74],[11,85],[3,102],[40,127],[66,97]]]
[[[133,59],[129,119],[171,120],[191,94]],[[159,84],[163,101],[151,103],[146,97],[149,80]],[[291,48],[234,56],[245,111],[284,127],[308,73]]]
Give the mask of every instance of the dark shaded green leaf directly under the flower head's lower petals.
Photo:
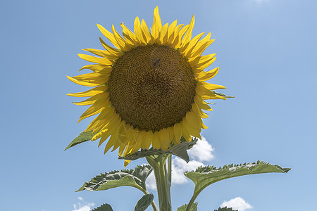
[[[180,143],[171,146],[167,151],[162,151],[162,149],[154,149],[150,148],[147,149],[141,149],[141,151],[137,151],[136,153],[133,153],[131,155],[127,155],[126,157],[119,157],[119,159],[124,160],[137,160],[139,158],[144,158],[150,155],[163,155],[163,154],[173,154],[176,155],[186,162],[189,162],[189,156],[187,154],[187,150],[189,148],[192,148],[197,143],[197,138],[193,138],[191,142],[185,141],[185,139],[182,137],[180,140]]]

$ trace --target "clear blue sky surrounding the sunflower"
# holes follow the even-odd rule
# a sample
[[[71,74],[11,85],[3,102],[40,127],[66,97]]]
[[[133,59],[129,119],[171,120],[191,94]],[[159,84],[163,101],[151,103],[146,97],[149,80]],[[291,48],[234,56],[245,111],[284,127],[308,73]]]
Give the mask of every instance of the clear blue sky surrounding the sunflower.
[[[74,192],[123,162],[117,151],[104,155],[97,142],[63,151],[92,120],[77,124],[86,108],[66,94],[86,88],[66,75],[88,64],[77,56],[81,49],[101,49],[97,23],[132,28],[138,15],[151,25],[157,5],[162,23],[187,24],[194,14],[194,35],[211,32],[216,41],[206,54],[217,53],[211,68],[220,71],[209,82],[236,96],[213,101],[202,132],[213,158],[203,163],[264,160],[292,168],[220,181],[197,198],[199,210],[238,197],[250,211],[316,209],[316,1],[31,0],[0,3],[1,210],[71,211],[102,203],[132,210],[142,197],[129,187]],[[173,185],[173,210],[189,201],[193,188]]]

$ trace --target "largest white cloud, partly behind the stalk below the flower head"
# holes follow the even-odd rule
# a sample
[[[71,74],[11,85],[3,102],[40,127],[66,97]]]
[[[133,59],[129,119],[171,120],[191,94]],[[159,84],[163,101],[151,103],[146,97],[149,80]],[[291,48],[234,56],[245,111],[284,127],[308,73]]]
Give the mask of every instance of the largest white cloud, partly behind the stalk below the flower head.
[[[197,141],[197,144],[188,151],[190,161],[187,163],[181,158],[175,157],[172,160],[172,184],[185,184],[187,177],[183,174],[185,171],[192,171],[197,167],[204,165],[204,161],[209,161],[214,158],[213,147],[206,141],[204,137]],[[147,188],[151,190],[156,189],[156,182],[154,172],[152,172],[146,181]]]

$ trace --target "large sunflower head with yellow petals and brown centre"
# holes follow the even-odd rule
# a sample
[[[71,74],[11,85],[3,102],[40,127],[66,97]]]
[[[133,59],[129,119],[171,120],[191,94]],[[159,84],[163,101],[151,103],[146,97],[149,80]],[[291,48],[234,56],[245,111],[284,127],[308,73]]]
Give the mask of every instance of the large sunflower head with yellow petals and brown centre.
[[[111,41],[109,46],[100,38],[104,50],[84,49],[97,56],[78,54],[92,62],[83,69],[92,72],[68,77],[88,91],[68,94],[89,97],[75,103],[90,106],[81,120],[98,115],[87,127],[100,139],[99,146],[108,140],[104,153],[119,148],[119,155],[135,153],[140,148],[167,150],[170,143],[180,143],[183,136],[201,139],[201,128],[207,127],[201,118],[211,110],[204,101],[225,99],[213,90],[225,89],[206,81],[218,73],[218,68],[205,72],[216,59],[216,53],[201,56],[213,43],[211,33],[192,38],[194,15],[189,25],[177,25],[177,20],[162,26],[159,8],[154,9],[154,22],[149,30],[144,20],[135,18],[134,32],[123,23],[123,37],[112,25],[112,33],[97,25]]]

